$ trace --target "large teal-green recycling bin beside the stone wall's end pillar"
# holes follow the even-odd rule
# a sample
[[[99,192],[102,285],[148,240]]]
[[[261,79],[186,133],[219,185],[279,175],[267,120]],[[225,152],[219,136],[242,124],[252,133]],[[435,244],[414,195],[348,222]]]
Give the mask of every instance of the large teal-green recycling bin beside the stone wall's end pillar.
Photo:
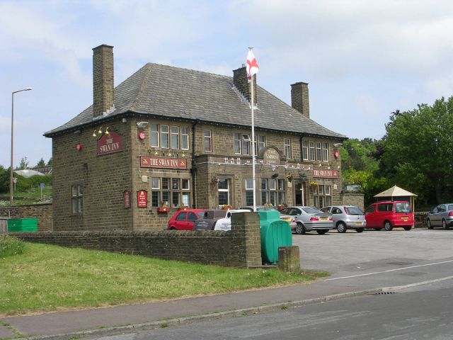
[[[261,229],[261,256],[266,263],[278,262],[278,247],[292,246],[289,223],[280,220],[277,210],[258,210]]]

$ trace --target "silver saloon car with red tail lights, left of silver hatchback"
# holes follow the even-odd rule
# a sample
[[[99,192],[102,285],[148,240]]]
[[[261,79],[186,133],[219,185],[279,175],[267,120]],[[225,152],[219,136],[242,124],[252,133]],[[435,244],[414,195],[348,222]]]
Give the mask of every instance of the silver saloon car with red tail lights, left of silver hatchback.
[[[296,234],[305,234],[316,230],[318,234],[326,234],[333,228],[332,214],[322,212],[314,207],[296,206],[281,211],[280,219],[289,222]]]

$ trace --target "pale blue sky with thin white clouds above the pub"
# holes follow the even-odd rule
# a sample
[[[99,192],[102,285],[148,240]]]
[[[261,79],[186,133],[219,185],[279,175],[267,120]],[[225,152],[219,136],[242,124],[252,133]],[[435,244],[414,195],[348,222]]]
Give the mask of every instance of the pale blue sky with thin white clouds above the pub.
[[[113,45],[115,86],[147,62],[257,82],[311,119],[381,139],[391,112],[453,95],[451,0],[0,0],[0,165],[52,157],[44,132],[93,103],[92,48]]]

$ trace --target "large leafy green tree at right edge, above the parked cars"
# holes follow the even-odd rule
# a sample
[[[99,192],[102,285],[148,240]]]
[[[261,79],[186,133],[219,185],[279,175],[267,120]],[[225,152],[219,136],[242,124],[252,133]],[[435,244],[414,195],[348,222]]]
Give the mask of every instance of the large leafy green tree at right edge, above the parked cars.
[[[432,106],[395,112],[382,140],[382,168],[391,179],[424,200],[452,198],[453,96]]]

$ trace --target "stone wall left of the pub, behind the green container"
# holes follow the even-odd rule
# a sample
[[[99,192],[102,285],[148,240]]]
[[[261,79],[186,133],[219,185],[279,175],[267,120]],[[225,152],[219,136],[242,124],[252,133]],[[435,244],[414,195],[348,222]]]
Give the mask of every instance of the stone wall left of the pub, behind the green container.
[[[38,231],[52,230],[52,204],[13,205],[0,208],[0,217],[38,218]]]

